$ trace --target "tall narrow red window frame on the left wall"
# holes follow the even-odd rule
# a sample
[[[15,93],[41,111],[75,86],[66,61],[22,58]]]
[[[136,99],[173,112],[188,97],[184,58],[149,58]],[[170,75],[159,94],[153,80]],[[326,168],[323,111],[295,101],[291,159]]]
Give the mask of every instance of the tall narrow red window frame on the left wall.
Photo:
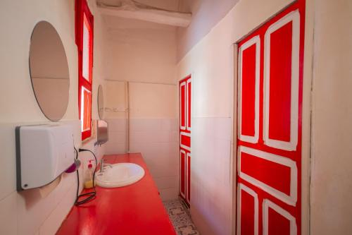
[[[88,77],[84,78],[83,72],[83,28],[87,26],[89,32],[89,63]],[[94,16],[89,10],[86,0],[75,1],[75,42],[78,49],[78,109],[79,117],[82,126],[82,140],[89,138],[92,135],[92,68],[93,68],[93,40],[94,40]],[[87,97],[82,103],[82,91]],[[84,109],[84,110],[83,110]],[[82,115],[83,114],[83,115]],[[84,129],[84,126],[88,126]]]

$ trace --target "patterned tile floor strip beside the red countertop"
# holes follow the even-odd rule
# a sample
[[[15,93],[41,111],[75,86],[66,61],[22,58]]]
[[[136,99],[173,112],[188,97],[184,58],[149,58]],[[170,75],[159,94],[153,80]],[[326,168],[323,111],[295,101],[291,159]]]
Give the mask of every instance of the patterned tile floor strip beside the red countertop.
[[[199,235],[199,231],[196,230],[191,220],[189,210],[180,200],[168,200],[163,203],[178,235]]]

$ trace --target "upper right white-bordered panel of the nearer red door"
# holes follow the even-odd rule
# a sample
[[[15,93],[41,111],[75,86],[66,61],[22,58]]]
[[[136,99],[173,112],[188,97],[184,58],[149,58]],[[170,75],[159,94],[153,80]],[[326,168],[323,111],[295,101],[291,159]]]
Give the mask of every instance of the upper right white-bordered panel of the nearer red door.
[[[298,144],[303,16],[300,9],[290,11],[264,35],[264,143],[280,150],[294,151]]]

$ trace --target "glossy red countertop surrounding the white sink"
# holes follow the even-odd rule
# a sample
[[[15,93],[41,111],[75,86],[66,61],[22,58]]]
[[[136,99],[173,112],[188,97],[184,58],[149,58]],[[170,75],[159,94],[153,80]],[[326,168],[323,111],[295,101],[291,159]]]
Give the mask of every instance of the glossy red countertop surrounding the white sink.
[[[144,168],[145,175],[130,186],[96,186],[96,198],[84,205],[73,206],[56,234],[175,235],[142,155],[106,155],[103,158],[110,164],[139,164]]]

